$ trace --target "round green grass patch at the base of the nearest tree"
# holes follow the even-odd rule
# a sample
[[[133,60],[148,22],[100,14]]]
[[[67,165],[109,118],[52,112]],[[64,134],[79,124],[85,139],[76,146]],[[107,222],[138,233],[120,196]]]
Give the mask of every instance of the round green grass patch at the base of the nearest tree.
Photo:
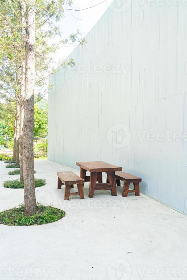
[[[5,210],[0,213],[0,223],[3,225],[43,225],[53,223],[62,219],[65,212],[51,206],[44,206],[37,203],[37,211],[31,215],[25,215],[24,204],[19,205],[19,208]]]

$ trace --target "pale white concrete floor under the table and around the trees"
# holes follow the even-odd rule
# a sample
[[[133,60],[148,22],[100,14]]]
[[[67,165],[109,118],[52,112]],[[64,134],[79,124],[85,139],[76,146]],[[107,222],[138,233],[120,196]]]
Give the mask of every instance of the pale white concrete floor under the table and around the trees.
[[[23,202],[23,189],[5,189],[10,169],[0,162],[0,211]],[[95,191],[85,199],[64,201],[56,171],[79,170],[52,161],[35,161],[35,177],[47,184],[36,189],[41,203],[66,216],[51,224],[11,227],[0,224],[0,279],[137,280],[187,278],[187,218],[140,194],[122,197]]]

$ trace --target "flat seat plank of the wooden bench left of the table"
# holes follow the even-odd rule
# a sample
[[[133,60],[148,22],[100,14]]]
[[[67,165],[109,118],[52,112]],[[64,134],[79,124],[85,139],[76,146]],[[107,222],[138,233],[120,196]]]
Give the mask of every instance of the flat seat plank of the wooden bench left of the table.
[[[72,171],[57,172],[57,176],[64,185],[84,184],[84,180]]]

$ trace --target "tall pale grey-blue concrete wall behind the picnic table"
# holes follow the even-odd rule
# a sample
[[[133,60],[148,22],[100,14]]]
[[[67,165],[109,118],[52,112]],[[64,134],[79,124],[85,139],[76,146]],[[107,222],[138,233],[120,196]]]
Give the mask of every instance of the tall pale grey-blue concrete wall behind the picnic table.
[[[51,76],[48,159],[122,166],[186,214],[187,7],[118,2],[69,56],[75,69]]]

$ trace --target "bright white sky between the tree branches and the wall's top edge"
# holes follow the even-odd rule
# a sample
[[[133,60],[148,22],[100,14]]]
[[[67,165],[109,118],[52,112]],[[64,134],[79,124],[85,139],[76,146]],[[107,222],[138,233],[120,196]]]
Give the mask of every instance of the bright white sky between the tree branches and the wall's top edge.
[[[102,1],[103,0],[74,0],[73,6],[69,7],[66,5],[64,8],[80,10],[97,5]],[[63,32],[62,37],[67,38],[69,34],[75,33],[77,29],[82,33],[81,37],[84,37],[104,14],[112,1],[113,0],[107,0],[96,7],[83,11],[65,11],[65,17],[57,24]],[[61,48],[57,56],[59,58],[66,58],[76,45],[77,43],[74,43],[71,47]]]

